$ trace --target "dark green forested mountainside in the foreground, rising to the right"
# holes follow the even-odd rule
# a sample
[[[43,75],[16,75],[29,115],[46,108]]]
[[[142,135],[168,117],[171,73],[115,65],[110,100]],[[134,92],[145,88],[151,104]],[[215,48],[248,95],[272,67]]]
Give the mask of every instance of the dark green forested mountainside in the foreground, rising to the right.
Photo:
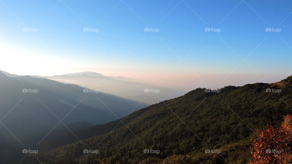
[[[230,159],[246,163],[250,142],[245,141],[255,135],[255,128],[267,123],[276,125],[283,115],[291,113],[292,76],[272,84],[206,91],[197,88],[135,111],[114,121],[125,122],[113,131],[110,128],[104,134],[26,155],[23,162],[37,162],[37,158],[45,163],[160,163],[182,154],[191,155],[189,160],[196,160],[194,163],[225,163]],[[98,130],[85,131],[94,134]],[[220,160],[203,158],[214,156],[206,155],[206,149],[219,148],[224,151]],[[84,153],[86,149],[99,153]],[[156,153],[144,153],[145,149]],[[185,157],[189,158],[182,158]]]

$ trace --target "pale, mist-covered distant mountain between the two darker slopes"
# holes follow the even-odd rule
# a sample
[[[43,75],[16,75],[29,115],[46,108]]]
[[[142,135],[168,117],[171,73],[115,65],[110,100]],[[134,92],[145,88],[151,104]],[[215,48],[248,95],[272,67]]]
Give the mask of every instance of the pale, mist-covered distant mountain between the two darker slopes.
[[[186,93],[185,91],[176,89],[144,84],[141,81],[128,77],[107,77],[96,72],[69,73],[46,76],[44,78],[66,84],[77,84],[82,87],[96,89],[104,93],[125,97],[134,101],[143,101],[146,104],[156,104],[162,100],[178,97]],[[145,92],[145,89],[149,92]]]

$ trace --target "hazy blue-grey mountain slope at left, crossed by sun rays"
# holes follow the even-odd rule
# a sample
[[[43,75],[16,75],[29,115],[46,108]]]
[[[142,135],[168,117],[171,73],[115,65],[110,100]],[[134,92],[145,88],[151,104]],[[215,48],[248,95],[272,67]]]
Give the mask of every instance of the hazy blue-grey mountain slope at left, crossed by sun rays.
[[[147,106],[84,89],[44,78],[7,77],[0,72],[0,159],[9,161],[15,154],[24,155],[20,149],[35,147],[43,138],[50,138],[54,129],[63,128],[66,134],[78,127],[72,123],[89,123],[78,123],[80,128],[104,124]]]

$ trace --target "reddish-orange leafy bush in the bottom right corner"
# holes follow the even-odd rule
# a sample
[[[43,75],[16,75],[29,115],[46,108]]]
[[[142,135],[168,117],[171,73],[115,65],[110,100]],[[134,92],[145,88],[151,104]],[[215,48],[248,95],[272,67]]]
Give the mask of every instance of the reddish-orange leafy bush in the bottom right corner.
[[[252,142],[253,163],[288,163],[292,150],[292,117],[284,117],[281,127],[267,126],[257,130],[258,137]]]

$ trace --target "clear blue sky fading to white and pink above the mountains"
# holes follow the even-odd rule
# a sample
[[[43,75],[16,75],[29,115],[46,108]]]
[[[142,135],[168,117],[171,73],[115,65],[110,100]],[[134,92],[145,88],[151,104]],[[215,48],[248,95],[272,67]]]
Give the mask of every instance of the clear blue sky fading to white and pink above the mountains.
[[[1,0],[0,70],[94,71],[185,90],[272,83],[292,73],[291,6],[288,0]]]

